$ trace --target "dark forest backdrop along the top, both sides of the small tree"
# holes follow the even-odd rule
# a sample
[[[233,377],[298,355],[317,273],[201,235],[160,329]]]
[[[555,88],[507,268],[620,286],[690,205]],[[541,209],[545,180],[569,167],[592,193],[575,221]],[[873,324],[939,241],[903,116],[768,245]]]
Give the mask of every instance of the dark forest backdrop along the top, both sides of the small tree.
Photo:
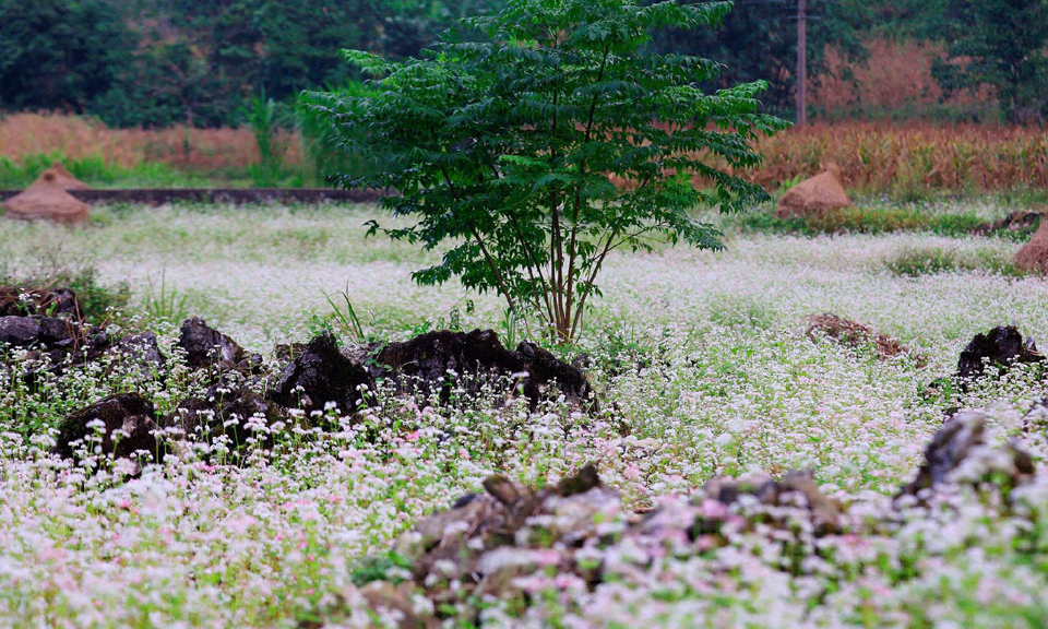
[[[414,56],[455,19],[500,3],[0,0],[0,111],[237,127],[253,98],[290,104],[359,79],[344,48]],[[809,0],[811,117],[1040,120],[1046,15],[1043,0]],[[797,21],[796,0],[738,0],[718,31],[663,32],[650,45],[723,62],[710,88],[766,79],[765,107],[791,116]]]

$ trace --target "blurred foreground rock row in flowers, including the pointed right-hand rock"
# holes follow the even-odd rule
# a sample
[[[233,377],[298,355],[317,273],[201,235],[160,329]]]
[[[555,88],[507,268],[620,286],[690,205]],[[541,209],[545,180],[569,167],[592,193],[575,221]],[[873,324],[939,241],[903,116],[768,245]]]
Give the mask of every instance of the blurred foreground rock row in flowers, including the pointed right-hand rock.
[[[989,484],[999,489],[1028,482],[1029,458],[1017,447],[987,444],[986,417],[961,414],[936,434],[916,479],[900,494],[929,499],[950,484]],[[847,508],[820,491],[810,472],[775,480],[754,475],[714,479],[690,500],[668,500],[636,513],[626,510],[596,470],[582,468],[545,489],[526,488],[501,476],[484,483],[450,509],[424,519],[393,546],[406,560],[409,579],[358,583],[343,596],[398,619],[400,627],[437,627],[441,609],[461,614],[484,601],[534,602],[536,589],[557,582],[588,591],[623,579],[650,579],[662,558],[699,556],[733,547],[739,536],[779,546],[783,570],[798,570],[805,554],[818,554],[820,538],[849,539],[856,531],[876,534],[897,526],[889,505],[883,522],[870,514],[849,519]],[[918,503],[920,503],[918,501]],[[775,555],[775,553],[769,553]],[[623,560],[628,558],[627,560]],[[428,604],[419,604],[420,601]]]

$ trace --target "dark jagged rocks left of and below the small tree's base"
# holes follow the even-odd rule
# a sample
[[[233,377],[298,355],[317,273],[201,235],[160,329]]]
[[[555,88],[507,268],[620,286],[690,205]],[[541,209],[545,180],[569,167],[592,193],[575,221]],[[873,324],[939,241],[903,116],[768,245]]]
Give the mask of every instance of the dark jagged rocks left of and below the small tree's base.
[[[67,345],[75,344],[84,330],[66,319],[2,317],[0,343],[62,353]],[[98,336],[90,357],[108,354],[119,363],[134,366],[143,377],[164,377],[167,357],[154,334],[116,341],[104,333]],[[580,369],[532,344],[522,343],[516,352],[510,352],[490,330],[430,332],[404,343],[371,347],[370,353],[343,352],[334,336],[322,334],[308,344],[288,346],[285,355],[289,361],[275,373],[264,371],[260,356],[249,355],[229,336],[196,317],[182,323],[176,347],[183,353],[187,366],[210,384],[204,395],[180,401],[170,416],[159,418],[152,412],[140,412],[134,404],[120,406],[110,399],[103,400],[67,417],[56,451],[70,455],[79,440],[90,434],[86,425],[98,414],[105,416],[107,429],[122,426],[116,417],[119,408],[124,408],[129,426],[144,429],[145,424],[134,418],[147,416],[152,422],[150,429],[160,429],[165,441],[213,442],[225,436],[236,458],[247,437],[261,438],[265,447],[272,442],[271,426],[299,420],[302,414],[293,410],[305,412],[302,420],[310,425],[312,416],[325,412],[329,405],[342,415],[355,414],[368,403],[361,391],[373,390],[382,379],[394,380],[406,394],[445,391],[448,382],[456,378],[471,391],[479,391],[488,383],[502,385],[507,394],[519,391],[533,407],[557,392],[563,392],[580,406],[593,408],[596,404]],[[62,356],[56,354],[55,359]],[[115,448],[110,439],[100,443],[98,453],[121,456],[126,450]]]

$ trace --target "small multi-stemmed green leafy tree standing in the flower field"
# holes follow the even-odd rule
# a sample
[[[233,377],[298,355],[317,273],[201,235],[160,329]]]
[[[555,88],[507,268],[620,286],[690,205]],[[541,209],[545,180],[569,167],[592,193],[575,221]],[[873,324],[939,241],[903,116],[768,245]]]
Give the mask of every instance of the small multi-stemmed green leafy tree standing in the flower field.
[[[760,162],[752,141],[785,123],[758,111],[754,82],[703,94],[720,67],[659,55],[654,29],[713,26],[729,2],[511,0],[490,17],[393,63],[346,51],[376,76],[370,96],[314,93],[337,147],[381,156],[374,176],[335,181],[392,189],[384,209],[417,221],[371,234],[449,249],[414,273],[420,284],[457,276],[495,289],[514,313],[536,313],[552,337],[581,330],[597,275],[617,249],[659,239],[722,247],[696,205],[738,211],[765,191],[712,165]],[[708,188],[696,188],[692,176]]]

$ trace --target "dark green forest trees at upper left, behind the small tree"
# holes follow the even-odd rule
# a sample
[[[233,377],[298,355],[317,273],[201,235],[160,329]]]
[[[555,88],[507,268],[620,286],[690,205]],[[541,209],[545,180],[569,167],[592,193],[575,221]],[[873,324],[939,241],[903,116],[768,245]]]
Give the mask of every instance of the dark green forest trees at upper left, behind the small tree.
[[[461,4],[440,0],[0,0],[0,108],[94,114],[111,126],[239,124],[352,78],[340,49],[403,57]],[[476,7],[468,7],[476,4]]]

